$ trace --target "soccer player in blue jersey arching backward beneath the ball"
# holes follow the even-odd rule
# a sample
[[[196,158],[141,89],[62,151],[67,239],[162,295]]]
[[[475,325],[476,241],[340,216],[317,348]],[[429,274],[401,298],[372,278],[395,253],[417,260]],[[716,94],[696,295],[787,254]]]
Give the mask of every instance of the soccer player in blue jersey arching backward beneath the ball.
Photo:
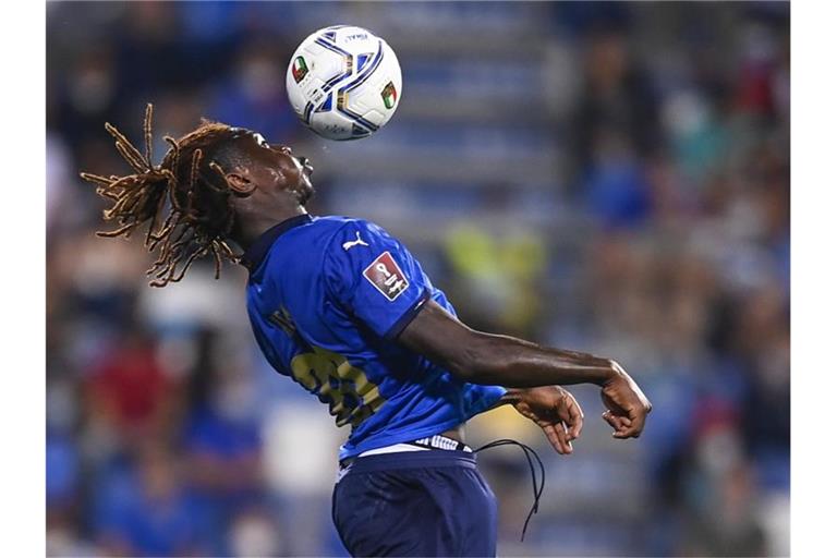
[[[151,107],[141,153],[110,124],[133,168],[82,177],[128,236],[147,227],[151,284],[203,256],[250,271],[246,304],[268,362],[351,432],[340,449],[332,517],[354,556],[494,556],[496,501],[465,445],[472,416],[510,404],[559,453],[582,411],[563,385],[601,386],[614,437],[642,433],[651,403],[612,360],[475,331],[407,247],[361,219],[313,217],[312,167],[260,134],[204,122],[151,162]]]

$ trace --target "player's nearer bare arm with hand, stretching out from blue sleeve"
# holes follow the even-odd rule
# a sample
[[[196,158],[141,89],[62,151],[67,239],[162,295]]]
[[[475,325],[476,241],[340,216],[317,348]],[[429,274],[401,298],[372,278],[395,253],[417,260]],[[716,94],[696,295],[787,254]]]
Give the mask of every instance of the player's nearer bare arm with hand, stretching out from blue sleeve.
[[[614,427],[616,438],[639,437],[651,412],[645,395],[615,361],[476,331],[434,301],[424,304],[398,339],[472,384],[508,388],[595,384],[602,387],[603,417]],[[531,393],[543,391],[510,389],[504,402],[515,404],[520,411],[519,400]],[[574,400],[566,402],[568,408],[572,403]]]

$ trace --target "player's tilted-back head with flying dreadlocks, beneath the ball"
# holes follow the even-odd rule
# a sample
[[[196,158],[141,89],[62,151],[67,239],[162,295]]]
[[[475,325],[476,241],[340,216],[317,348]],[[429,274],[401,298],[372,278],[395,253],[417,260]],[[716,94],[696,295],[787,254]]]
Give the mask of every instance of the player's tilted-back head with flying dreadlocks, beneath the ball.
[[[205,121],[179,140],[159,166],[151,163],[151,106],[145,113],[145,151],[136,149],[116,128],[105,124],[117,149],[133,168],[124,177],[82,173],[113,205],[105,219],[118,223],[101,236],[125,236],[147,225],[145,245],[159,250],[148,270],[153,286],[180,281],[197,258],[238,262],[229,240],[242,225],[276,208],[304,206],[314,192],[312,168],[284,146],[271,146],[260,134]]]

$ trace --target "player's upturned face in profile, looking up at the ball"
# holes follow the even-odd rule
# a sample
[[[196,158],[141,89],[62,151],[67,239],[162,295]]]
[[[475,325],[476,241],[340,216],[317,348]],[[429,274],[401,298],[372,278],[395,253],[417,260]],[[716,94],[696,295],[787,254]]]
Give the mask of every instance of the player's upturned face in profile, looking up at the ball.
[[[257,186],[268,192],[293,191],[304,204],[314,193],[311,173],[314,167],[305,157],[295,157],[287,145],[269,144],[257,132],[242,138],[243,147],[254,162],[250,173]]]

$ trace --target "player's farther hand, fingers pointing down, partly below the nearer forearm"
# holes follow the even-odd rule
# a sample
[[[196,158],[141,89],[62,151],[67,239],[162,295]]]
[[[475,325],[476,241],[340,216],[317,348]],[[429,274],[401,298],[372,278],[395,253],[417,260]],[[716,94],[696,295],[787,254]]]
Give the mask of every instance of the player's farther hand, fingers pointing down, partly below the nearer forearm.
[[[544,430],[558,453],[572,453],[581,435],[584,413],[572,393],[558,386],[521,389],[514,409]]]

